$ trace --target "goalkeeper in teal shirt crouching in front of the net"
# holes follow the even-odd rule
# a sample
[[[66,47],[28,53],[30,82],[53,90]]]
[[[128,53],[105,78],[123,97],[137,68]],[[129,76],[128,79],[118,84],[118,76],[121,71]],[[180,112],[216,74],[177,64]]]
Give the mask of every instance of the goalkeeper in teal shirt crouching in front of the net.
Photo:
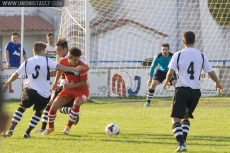
[[[148,101],[145,103],[144,105],[145,107],[148,107],[150,105],[150,101],[153,97],[157,85],[159,85],[165,80],[166,74],[168,72],[168,65],[172,56],[173,54],[169,52],[169,44],[163,43],[161,45],[161,53],[154,57],[150,67],[149,80],[147,82],[149,86],[149,92],[147,93]],[[157,71],[154,73],[154,69],[156,66],[157,66]],[[176,81],[177,78],[176,78],[176,74],[174,73],[172,79],[170,80],[170,85],[173,85],[175,87]]]

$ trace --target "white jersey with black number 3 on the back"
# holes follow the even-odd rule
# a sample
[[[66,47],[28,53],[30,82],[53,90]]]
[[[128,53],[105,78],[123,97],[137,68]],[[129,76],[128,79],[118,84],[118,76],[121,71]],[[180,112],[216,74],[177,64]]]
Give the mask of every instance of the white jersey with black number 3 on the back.
[[[34,89],[42,97],[50,96],[50,69],[55,69],[57,62],[45,56],[34,56],[23,62],[16,71],[19,75],[26,74],[27,79],[23,82],[25,87]]]

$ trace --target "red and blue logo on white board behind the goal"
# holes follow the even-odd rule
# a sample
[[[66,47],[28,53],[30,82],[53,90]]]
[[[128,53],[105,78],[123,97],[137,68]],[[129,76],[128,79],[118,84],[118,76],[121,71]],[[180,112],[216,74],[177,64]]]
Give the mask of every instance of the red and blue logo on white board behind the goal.
[[[141,87],[141,77],[134,76],[134,79],[131,79],[127,72],[124,73],[126,75],[122,76],[125,79],[118,73],[112,77],[112,92],[122,97],[137,95]]]

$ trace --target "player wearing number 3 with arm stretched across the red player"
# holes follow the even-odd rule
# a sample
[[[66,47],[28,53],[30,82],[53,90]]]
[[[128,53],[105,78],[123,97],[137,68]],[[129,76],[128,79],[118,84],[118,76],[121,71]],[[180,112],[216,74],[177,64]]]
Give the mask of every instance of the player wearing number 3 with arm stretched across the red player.
[[[29,127],[23,135],[24,138],[30,138],[31,130],[39,122],[42,112],[50,100],[49,69],[62,72],[75,71],[76,73],[85,69],[84,66],[73,68],[53,62],[50,58],[45,57],[45,48],[45,43],[35,42],[33,46],[34,57],[23,62],[19,69],[11,75],[3,86],[3,92],[5,92],[9,84],[15,81],[20,75],[26,74],[28,77],[23,83],[26,88],[23,90],[20,106],[12,118],[12,124],[9,130],[2,133],[3,137],[12,136],[14,128],[21,120],[25,110],[34,105],[33,109],[35,110],[35,114],[31,118]]]

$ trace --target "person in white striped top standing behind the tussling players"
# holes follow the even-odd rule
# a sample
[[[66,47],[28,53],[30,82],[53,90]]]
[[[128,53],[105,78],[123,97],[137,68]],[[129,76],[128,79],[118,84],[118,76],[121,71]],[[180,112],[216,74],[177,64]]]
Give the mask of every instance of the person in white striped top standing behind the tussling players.
[[[54,35],[52,33],[46,34],[46,39],[48,43],[46,44],[46,56],[51,58],[53,61],[56,61],[56,45],[54,43]]]

